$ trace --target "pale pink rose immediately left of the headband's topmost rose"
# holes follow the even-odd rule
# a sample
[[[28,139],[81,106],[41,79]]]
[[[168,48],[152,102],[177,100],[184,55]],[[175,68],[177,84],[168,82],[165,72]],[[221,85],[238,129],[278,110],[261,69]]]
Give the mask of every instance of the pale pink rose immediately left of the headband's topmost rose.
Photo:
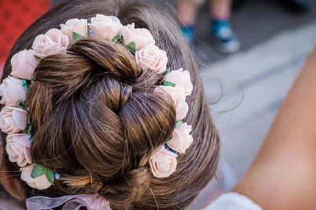
[[[66,21],[65,24],[61,24],[61,32],[68,37],[70,43],[73,42],[73,32],[83,37],[87,37],[87,19],[70,19]]]

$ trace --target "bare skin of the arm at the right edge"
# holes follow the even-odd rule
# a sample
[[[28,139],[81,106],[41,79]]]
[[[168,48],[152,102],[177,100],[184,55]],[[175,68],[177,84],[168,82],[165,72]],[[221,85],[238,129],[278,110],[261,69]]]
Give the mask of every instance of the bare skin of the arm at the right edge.
[[[232,191],[267,210],[316,207],[316,49],[310,54],[255,161]]]

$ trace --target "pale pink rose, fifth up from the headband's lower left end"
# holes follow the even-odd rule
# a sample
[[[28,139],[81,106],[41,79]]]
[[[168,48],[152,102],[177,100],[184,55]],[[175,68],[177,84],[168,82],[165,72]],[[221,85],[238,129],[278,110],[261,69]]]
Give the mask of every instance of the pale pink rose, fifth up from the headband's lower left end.
[[[32,49],[24,49],[14,54],[11,58],[12,72],[11,75],[17,78],[31,80],[34,69],[39,64],[34,56]]]

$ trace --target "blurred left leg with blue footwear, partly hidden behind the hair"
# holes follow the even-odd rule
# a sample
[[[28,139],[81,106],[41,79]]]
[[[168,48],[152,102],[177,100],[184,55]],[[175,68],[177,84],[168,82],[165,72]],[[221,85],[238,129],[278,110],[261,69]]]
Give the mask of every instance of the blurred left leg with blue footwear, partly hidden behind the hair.
[[[194,25],[203,0],[178,0],[178,21],[188,43],[193,45]]]

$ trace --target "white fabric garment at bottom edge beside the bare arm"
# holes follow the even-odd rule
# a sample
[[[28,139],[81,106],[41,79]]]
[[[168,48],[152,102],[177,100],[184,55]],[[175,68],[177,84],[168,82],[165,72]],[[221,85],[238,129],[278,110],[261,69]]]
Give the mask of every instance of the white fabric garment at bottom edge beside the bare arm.
[[[230,192],[222,194],[203,210],[262,210],[262,208],[246,196]]]

